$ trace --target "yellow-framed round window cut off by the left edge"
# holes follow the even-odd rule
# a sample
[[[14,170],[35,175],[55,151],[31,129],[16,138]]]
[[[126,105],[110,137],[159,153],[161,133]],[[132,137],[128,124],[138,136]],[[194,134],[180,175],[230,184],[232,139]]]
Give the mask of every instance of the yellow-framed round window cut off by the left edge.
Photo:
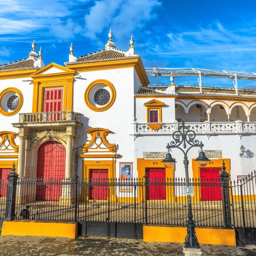
[[[4,89],[0,93],[0,113],[5,116],[15,115],[23,104],[21,91],[14,87]]]

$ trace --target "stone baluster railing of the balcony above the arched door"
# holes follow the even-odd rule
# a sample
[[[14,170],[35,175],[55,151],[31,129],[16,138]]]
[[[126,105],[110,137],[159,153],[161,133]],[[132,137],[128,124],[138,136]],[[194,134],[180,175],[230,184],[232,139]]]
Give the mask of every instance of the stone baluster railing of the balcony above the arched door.
[[[73,111],[39,112],[19,114],[19,123],[42,123],[42,122],[80,122],[80,113]]]

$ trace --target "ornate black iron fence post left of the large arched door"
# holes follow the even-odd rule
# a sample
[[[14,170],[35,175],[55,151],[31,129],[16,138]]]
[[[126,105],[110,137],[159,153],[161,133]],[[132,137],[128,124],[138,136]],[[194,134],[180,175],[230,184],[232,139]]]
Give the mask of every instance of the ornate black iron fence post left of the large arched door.
[[[12,172],[8,174],[7,197],[5,208],[5,221],[14,220],[15,201],[16,201],[16,186],[18,174],[15,172],[15,164],[13,163]]]

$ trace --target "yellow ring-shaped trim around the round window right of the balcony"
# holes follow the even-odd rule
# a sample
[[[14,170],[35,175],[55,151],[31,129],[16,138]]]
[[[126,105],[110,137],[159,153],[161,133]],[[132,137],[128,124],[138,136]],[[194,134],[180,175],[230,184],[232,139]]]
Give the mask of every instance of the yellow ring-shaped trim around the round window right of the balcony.
[[[98,85],[98,84],[107,85],[108,88],[110,89],[110,92],[111,92],[110,101],[105,106],[102,106],[102,107],[95,107],[89,101],[90,90],[92,89],[92,87],[94,87],[95,85]],[[108,110],[114,104],[115,98],[116,98],[116,91],[115,91],[114,85],[111,82],[109,82],[108,80],[105,80],[105,79],[98,79],[98,80],[95,80],[95,81],[91,82],[85,90],[85,104],[87,105],[87,107],[89,109],[91,109],[93,111],[96,111],[96,112],[101,112],[101,111]]]

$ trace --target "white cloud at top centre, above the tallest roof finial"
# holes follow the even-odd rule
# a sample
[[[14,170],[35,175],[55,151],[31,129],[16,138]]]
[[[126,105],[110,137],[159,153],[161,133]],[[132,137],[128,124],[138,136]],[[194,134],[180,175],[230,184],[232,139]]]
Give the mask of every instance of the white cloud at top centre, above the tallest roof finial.
[[[153,11],[158,6],[160,2],[157,0],[96,1],[89,14],[85,15],[85,35],[96,39],[102,31],[107,34],[111,27],[113,39],[123,42],[155,17]]]

